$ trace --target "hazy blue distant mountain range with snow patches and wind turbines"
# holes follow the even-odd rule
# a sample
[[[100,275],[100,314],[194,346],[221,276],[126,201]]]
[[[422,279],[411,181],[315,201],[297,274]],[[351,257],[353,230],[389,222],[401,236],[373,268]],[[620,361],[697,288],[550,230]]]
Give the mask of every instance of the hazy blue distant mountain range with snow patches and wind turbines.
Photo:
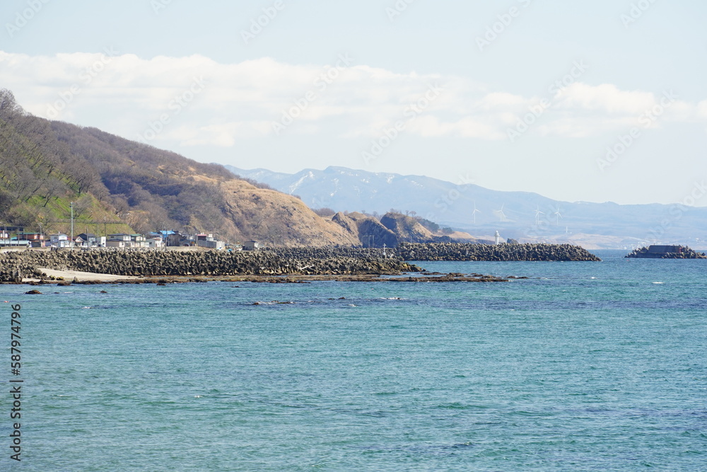
[[[334,166],[294,174],[226,168],[298,195],[314,209],[414,212],[479,238],[493,238],[500,231],[504,238],[569,242],[587,248],[631,248],[647,243],[703,248],[707,239],[707,207],[560,202],[537,193],[501,192],[463,181]]]

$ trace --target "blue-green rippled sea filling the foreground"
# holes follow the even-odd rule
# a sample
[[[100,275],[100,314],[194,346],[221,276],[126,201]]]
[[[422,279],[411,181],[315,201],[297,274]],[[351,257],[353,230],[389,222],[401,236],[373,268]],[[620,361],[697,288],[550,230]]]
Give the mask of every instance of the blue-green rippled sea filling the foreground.
[[[707,470],[707,260],[595,253],[418,263],[528,277],[493,283],[0,285],[0,470]]]

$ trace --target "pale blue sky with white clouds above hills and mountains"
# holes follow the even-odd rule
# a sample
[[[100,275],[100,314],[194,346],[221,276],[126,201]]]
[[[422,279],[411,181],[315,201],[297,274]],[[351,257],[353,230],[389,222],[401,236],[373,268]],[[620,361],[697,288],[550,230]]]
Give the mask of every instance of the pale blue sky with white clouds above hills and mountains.
[[[202,162],[707,206],[698,0],[4,0],[25,110]]]

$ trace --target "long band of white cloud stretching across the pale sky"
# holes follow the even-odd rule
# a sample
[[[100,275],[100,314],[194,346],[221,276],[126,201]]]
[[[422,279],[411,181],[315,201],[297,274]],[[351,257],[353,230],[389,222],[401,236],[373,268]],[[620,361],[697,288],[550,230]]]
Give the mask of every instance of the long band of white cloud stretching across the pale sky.
[[[402,120],[404,132],[423,137],[500,140],[540,101],[487,90],[458,76],[399,74],[353,59],[349,67],[337,67],[337,60],[298,65],[264,57],[221,64],[201,55],[142,59],[134,54],[46,57],[0,51],[0,82],[30,113],[132,139],[158,128],[152,139],[182,146],[228,147],[237,139],[273,137],[272,123],[288,115],[296,115],[284,131],[291,134],[378,137]],[[199,78],[203,88],[190,93]],[[426,97],[433,85],[442,91]],[[588,137],[623,130],[661,99],[647,91],[576,82],[550,98],[551,108],[530,132]],[[412,120],[410,110],[416,106],[423,110]],[[168,122],[156,125],[165,116]],[[660,119],[707,121],[707,100],[678,100]]]

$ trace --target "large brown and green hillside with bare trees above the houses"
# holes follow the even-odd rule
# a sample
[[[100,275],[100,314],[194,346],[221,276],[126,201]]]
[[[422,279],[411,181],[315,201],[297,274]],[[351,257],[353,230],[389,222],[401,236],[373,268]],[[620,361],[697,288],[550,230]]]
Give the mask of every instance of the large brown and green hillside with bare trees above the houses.
[[[177,229],[271,246],[356,245],[301,200],[216,164],[35,117],[0,91],[0,224],[98,234]],[[78,231],[77,231],[78,232]]]

